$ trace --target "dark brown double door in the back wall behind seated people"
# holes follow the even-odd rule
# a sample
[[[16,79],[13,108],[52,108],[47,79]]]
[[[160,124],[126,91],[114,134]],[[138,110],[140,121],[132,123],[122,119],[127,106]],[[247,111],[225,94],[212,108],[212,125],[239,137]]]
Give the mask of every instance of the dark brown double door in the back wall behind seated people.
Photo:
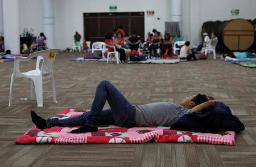
[[[105,41],[105,34],[123,26],[126,37],[136,32],[144,36],[144,12],[84,13],[86,41]]]

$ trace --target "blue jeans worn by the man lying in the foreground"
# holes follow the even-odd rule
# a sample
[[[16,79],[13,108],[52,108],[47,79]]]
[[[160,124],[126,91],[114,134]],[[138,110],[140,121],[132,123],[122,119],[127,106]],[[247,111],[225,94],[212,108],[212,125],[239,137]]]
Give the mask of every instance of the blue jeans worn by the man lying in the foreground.
[[[111,109],[102,110],[106,100]],[[110,82],[102,81],[98,84],[96,95],[90,112],[77,117],[59,119],[48,118],[47,127],[53,126],[82,126],[97,127],[98,124],[115,124],[120,127],[137,127],[135,121],[136,109]]]

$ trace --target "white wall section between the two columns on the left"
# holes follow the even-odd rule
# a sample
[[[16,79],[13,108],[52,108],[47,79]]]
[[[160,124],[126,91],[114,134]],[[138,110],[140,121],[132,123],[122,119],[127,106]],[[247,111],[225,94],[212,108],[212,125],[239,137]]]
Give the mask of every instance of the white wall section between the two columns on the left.
[[[43,2],[40,0],[19,0],[19,33],[24,28],[34,28],[34,35],[43,32]]]

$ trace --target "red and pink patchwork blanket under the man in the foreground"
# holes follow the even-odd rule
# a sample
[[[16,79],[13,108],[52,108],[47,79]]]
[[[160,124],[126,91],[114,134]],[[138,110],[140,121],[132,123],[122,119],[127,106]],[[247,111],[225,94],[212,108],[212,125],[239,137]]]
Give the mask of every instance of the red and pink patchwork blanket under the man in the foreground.
[[[76,117],[83,112],[73,109],[64,109],[56,118],[64,119]],[[187,142],[234,145],[236,132],[227,131],[221,134],[171,130],[170,127],[133,127],[123,128],[115,125],[101,125],[97,132],[71,134],[70,131],[78,127],[51,127],[40,130],[32,127],[20,136],[16,144],[89,144],[89,143],[144,143],[150,140],[155,142]]]

